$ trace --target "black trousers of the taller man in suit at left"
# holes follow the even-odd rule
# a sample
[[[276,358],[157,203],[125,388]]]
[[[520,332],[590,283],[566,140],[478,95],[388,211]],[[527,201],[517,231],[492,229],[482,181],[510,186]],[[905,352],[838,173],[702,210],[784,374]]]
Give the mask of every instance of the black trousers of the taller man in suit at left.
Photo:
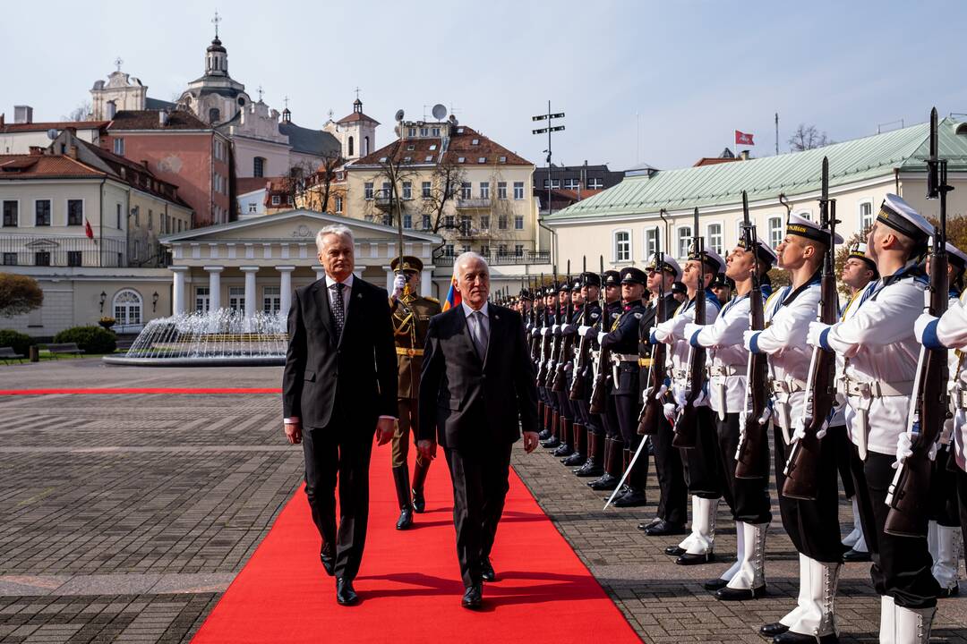
[[[322,543],[336,546],[337,577],[355,578],[363,561],[369,518],[369,456],[375,427],[375,418],[359,427],[335,409],[329,425],[308,428],[303,433],[308,505]]]

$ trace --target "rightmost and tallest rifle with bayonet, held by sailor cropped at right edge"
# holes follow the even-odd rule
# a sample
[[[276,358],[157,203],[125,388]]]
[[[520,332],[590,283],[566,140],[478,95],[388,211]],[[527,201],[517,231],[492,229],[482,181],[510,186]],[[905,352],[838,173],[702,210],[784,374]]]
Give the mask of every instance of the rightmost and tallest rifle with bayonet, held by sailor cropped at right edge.
[[[937,145],[937,108],[930,112],[930,157],[926,159],[926,198],[940,200],[940,221],[933,229],[930,249],[929,298],[926,312],[940,317],[947,310],[947,193],[953,186],[947,182],[947,159],[939,157]],[[926,536],[927,511],[930,507],[930,448],[940,438],[944,423],[950,417],[947,383],[950,378],[948,350],[920,348],[917,374],[907,431],[912,435],[913,454],[896,468],[887,493],[887,515],[884,530],[897,537]]]

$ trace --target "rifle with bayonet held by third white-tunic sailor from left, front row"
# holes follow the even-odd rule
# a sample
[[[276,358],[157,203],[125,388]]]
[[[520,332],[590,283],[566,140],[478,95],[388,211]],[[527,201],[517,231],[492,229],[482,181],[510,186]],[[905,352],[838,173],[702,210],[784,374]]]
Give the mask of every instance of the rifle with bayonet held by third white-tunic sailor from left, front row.
[[[759,264],[759,239],[748,217],[748,195],[742,191],[742,232],[746,252],[752,253],[752,290],[748,292],[748,328],[766,327],[762,301],[762,266]],[[765,353],[748,352],[746,365],[746,408],[739,415],[739,448],[735,453],[735,478],[763,479],[769,476],[769,362]]]

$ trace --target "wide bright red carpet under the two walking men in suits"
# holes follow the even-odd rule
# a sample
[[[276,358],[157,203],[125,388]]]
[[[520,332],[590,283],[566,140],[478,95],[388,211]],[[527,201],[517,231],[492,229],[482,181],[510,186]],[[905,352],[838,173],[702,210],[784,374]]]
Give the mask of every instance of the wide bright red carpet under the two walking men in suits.
[[[498,581],[484,584],[483,611],[462,608],[443,455],[430,468],[426,512],[407,531],[395,529],[389,460],[389,445],[374,448],[359,605],[337,604],[300,488],[193,642],[640,641],[513,472],[491,557]]]

